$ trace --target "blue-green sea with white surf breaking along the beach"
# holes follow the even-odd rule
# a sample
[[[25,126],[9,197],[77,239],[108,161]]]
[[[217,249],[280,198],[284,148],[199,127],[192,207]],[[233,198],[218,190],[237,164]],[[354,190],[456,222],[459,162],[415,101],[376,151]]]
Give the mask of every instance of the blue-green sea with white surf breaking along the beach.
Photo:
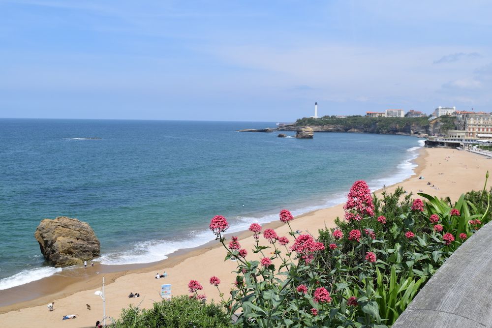
[[[409,177],[407,136],[242,133],[273,122],[0,119],[0,290],[53,274],[33,234],[44,218],[88,222],[103,264],[150,263],[229,231],[343,202]],[[287,132],[290,136],[294,133]],[[29,272],[29,274],[27,274]]]

